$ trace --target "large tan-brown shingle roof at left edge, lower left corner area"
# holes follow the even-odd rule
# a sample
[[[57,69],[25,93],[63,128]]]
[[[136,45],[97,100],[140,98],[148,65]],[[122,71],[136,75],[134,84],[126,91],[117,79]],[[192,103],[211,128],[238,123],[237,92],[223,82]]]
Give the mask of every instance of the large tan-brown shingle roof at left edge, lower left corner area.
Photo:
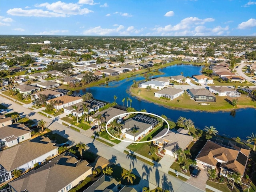
[[[49,138],[44,137],[37,137],[23,142],[12,148],[1,151],[0,165],[7,171],[12,171],[17,167],[58,148],[53,145],[54,143],[51,142]]]

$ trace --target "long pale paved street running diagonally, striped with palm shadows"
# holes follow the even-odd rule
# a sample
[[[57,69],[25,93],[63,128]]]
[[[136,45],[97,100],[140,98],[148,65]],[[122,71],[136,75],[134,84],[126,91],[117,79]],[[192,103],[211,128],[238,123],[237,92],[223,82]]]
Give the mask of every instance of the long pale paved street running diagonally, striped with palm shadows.
[[[20,115],[26,115],[28,118],[35,122],[41,119],[45,120],[46,122],[49,122],[48,128],[50,130],[54,130],[54,132],[56,132],[57,134],[60,134],[65,138],[68,138],[74,143],[78,143],[80,141],[86,143],[89,146],[89,150],[91,150],[92,152],[112,162],[115,162],[116,164],[120,164],[120,166],[127,170],[130,169],[131,165],[132,172],[144,178],[144,185],[148,185],[150,189],[153,189],[156,186],[160,186],[166,190],[170,190],[170,192],[204,191],[192,186],[191,184],[183,182],[182,180],[179,180],[176,177],[170,176],[168,174],[168,170],[164,168],[164,165],[162,166],[161,164],[157,164],[156,166],[151,167],[148,164],[144,164],[140,160],[130,159],[130,156],[127,156],[126,154],[116,150],[115,148],[108,147],[105,144],[98,142],[97,140],[93,140],[92,138],[80,134],[72,129],[69,129],[57,123],[54,120],[50,120],[49,118],[42,116],[34,112],[33,110],[20,106],[19,104],[10,101],[6,98],[3,98],[2,96],[0,97],[1,104],[8,106],[10,110],[14,110],[18,112]]]

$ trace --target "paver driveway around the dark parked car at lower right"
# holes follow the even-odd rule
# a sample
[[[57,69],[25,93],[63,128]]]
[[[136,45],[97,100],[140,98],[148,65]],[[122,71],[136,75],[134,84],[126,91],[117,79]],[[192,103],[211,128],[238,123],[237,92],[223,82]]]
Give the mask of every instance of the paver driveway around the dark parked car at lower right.
[[[200,170],[201,172],[197,178],[190,176],[186,182],[205,191],[206,181],[208,180],[208,173],[206,169],[200,168]]]

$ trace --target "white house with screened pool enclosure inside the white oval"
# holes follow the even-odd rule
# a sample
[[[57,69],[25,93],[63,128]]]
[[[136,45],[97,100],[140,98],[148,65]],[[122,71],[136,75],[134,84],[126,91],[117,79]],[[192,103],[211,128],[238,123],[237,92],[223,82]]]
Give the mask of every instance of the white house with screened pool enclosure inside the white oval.
[[[150,132],[150,130],[158,124],[158,120],[145,115],[136,115],[133,118],[125,120],[121,124],[122,137],[137,141],[141,140],[148,132]],[[138,132],[133,133],[133,130],[137,130]]]

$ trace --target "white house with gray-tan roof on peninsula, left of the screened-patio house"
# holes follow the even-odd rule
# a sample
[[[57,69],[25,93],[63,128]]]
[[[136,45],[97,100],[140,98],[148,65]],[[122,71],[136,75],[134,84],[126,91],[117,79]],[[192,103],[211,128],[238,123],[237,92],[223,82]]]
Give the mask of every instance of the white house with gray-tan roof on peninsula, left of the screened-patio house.
[[[154,92],[155,97],[158,97],[158,98],[160,98],[160,97],[170,98],[170,100],[173,100],[173,99],[175,99],[175,98],[177,98],[179,96],[182,96],[183,93],[184,93],[183,90],[172,88],[172,87],[165,88],[163,90]]]

